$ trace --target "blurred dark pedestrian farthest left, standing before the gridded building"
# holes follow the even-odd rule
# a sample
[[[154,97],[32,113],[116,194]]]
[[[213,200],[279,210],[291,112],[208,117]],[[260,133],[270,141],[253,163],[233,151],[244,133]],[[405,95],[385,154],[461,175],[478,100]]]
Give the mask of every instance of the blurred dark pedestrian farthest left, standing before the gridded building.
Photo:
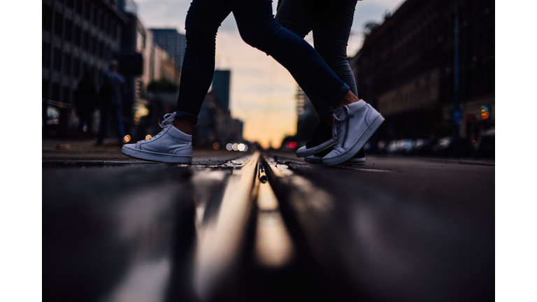
[[[89,139],[92,131],[92,114],[96,107],[96,85],[92,71],[86,71],[75,90],[74,105],[78,115],[79,138]],[[84,126],[87,126],[84,131]]]

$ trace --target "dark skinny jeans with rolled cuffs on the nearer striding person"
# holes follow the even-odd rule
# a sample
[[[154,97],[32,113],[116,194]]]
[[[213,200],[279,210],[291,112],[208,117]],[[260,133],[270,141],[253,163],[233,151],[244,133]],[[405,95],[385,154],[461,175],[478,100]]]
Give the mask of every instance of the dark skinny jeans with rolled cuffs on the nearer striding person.
[[[274,20],[271,0],[193,0],[187,13],[187,49],[182,64],[177,117],[196,124],[215,70],[216,33],[233,12],[243,41],[284,66],[319,96],[315,108],[331,108],[349,91],[303,38]],[[312,100],[313,101],[313,100]],[[320,116],[327,113],[319,113]]]

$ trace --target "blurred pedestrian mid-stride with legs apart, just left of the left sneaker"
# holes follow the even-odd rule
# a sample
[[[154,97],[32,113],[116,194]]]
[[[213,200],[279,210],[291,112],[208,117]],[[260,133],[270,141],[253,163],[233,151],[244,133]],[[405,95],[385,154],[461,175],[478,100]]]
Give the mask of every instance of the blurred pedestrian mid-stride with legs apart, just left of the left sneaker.
[[[99,87],[99,106],[101,107],[101,124],[96,145],[102,145],[108,132],[108,120],[111,118],[115,127],[115,133],[119,138],[120,145],[125,136],[123,122],[121,120],[121,105],[127,95],[127,82],[120,73],[117,73],[117,61],[112,60],[108,65],[108,72],[104,75]]]

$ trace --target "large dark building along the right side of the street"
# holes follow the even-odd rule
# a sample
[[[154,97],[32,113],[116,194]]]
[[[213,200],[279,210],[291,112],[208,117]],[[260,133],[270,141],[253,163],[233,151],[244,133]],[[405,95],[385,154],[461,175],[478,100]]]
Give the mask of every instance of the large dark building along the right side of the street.
[[[358,96],[385,117],[385,139],[439,138],[454,129],[455,1],[407,0],[368,24],[350,60]],[[494,127],[494,1],[459,0],[460,137]],[[489,115],[482,115],[486,108]]]

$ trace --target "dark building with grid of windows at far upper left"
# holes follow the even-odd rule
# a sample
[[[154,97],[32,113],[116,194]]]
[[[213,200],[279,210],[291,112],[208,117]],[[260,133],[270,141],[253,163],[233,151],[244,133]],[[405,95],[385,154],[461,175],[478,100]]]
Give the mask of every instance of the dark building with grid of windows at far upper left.
[[[106,73],[127,17],[116,0],[42,0],[42,22],[43,135],[54,135],[74,114],[67,109],[83,73],[96,83]]]

